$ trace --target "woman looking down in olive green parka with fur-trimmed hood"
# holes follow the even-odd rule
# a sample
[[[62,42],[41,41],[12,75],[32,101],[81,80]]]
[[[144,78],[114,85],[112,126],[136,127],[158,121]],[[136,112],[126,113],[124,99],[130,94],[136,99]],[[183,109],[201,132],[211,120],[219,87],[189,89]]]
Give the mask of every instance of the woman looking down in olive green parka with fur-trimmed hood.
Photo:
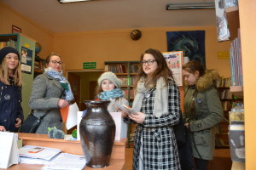
[[[197,170],[205,170],[215,150],[215,125],[223,119],[223,109],[215,82],[218,72],[205,71],[201,63],[189,61],[183,65],[184,122],[189,128],[192,153]]]

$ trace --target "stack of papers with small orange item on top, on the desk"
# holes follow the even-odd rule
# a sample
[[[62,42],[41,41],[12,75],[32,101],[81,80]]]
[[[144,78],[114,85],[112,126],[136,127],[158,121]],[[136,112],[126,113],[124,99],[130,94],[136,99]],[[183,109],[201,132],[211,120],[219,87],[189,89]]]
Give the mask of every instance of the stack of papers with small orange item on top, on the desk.
[[[60,152],[55,148],[25,145],[19,149],[20,163],[46,164]]]

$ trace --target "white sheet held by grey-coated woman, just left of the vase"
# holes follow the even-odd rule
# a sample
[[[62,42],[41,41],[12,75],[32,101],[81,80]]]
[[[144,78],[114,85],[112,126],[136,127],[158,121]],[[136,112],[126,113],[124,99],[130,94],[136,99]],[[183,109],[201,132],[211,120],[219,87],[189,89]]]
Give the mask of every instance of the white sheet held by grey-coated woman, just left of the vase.
[[[77,105],[77,103],[74,103],[73,105],[69,105],[68,114],[67,114],[67,122],[66,122],[67,130],[69,130],[72,127],[77,125],[78,111],[79,111],[79,106]]]

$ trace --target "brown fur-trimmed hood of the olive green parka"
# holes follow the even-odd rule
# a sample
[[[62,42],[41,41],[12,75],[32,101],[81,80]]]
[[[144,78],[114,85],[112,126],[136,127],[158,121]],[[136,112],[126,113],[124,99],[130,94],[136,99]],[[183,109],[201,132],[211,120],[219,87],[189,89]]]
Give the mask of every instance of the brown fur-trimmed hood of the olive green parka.
[[[216,86],[216,82],[219,79],[218,71],[216,70],[206,70],[205,74],[198,79],[195,86],[199,92],[205,91],[208,88]]]

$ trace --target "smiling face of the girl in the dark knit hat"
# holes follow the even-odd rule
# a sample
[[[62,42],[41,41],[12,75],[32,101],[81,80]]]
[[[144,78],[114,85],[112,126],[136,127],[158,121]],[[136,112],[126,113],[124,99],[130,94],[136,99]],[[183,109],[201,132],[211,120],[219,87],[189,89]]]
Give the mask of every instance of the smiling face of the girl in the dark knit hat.
[[[16,66],[19,64],[19,57],[15,53],[9,53],[4,57],[3,62],[7,65],[9,74],[12,74]]]

